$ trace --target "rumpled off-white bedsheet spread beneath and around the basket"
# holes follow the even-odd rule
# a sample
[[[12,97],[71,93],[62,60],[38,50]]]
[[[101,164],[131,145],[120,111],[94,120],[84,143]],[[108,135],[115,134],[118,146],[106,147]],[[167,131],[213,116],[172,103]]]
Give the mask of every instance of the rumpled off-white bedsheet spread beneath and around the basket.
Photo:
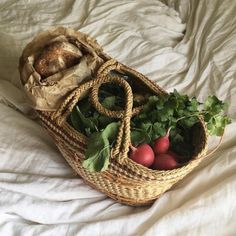
[[[151,207],[88,187],[29,118],[18,58],[59,25],[96,37],[168,91],[228,101],[233,123],[220,148]],[[0,235],[236,235],[235,77],[235,0],[1,0]]]

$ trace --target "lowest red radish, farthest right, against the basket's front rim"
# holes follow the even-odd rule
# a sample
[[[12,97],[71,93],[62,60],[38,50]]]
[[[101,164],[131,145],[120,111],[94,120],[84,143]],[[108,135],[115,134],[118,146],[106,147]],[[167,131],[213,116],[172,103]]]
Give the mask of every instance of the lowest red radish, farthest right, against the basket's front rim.
[[[156,156],[153,164],[155,170],[172,170],[178,167],[178,162],[174,156],[167,153],[162,153]]]

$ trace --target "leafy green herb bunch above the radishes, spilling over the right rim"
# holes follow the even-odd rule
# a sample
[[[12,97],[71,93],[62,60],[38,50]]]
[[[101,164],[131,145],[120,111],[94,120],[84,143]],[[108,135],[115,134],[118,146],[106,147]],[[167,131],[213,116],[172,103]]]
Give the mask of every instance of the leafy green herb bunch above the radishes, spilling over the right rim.
[[[181,155],[191,156],[191,130],[199,122],[198,117],[204,117],[211,135],[222,135],[224,128],[231,121],[222,115],[225,103],[215,96],[209,96],[201,108],[195,97],[180,95],[176,90],[163,96],[150,96],[139,115],[131,122],[131,141],[134,145],[152,143],[153,140],[164,136],[171,127],[171,143],[177,146]],[[142,132],[140,131],[142,130]],[[143,135],[143,138],[141,136]]]

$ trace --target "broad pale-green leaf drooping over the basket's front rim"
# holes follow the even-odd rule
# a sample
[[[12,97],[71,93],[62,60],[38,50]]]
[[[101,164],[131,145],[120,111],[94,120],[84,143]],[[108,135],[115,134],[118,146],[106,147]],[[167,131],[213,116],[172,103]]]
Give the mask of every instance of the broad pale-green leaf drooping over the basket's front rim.
[[[89,138],[83,167],[91,172],[105,171],[109,165],[110,146],[103,132],[96,132]]]

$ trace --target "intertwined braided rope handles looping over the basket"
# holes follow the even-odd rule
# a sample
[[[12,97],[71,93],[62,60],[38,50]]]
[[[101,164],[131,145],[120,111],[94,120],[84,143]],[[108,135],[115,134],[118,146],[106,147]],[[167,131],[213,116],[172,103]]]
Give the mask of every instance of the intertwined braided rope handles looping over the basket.
[[[98,70],[96,79],[81,84],[76,88],[61,104],[59,109],[52,114],[52,119],[57,124],[62,125],[67,116],[72,112],[74,106],[79,101],[81,95],[88,90],[91,90],[91,102],[95,109],[103,115],[121,119],[121,125],[119,127],[116,145],[112,149],[112,156],[118,155],[119,162],[121,163],[129,151],[130,146],[130,119],[133,115],[136,115],[142,109],[142,106],[133,109],[133,93],[132,89],[127,81],[119,76],[109,73],[112,70],[121,70],[123,65],[114,59],[111,59],[104,63]],[[112,111],[101,105],[99,102],[98,91],[99,87],[104,83],[115,82],[124,88],[126,102],[124,110]]]

